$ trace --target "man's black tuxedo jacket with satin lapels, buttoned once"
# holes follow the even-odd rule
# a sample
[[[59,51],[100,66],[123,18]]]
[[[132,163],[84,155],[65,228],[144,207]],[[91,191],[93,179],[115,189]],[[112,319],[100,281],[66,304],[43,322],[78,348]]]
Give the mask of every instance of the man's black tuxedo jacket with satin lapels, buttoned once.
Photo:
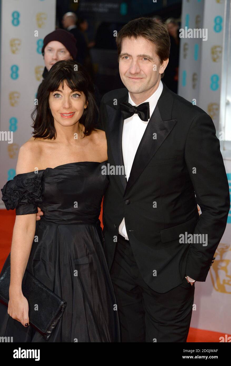
[[[213,121],[163,83],[127,182],[119,168],[124,165],[120,112],[124,101],[128,101],[126,88],[105,94],[100,105],[99,126],[107,137],[108,164],[118,168],[117,174],[109,175],[103,202],[109,269],[124,217],[139,271],[150,288],[167,292],[181,284],[185,275],[205,281],[230,209]],[[191,242],[189,234],[201,236],[194,235]],[[180,241],[180,235],[185,240]]]

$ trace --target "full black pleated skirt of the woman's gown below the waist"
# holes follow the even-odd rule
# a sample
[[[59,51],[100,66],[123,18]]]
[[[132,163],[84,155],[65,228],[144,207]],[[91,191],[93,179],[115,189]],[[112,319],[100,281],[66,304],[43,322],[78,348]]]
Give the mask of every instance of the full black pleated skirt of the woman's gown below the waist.
[[[116,299],[98,224],[37,221],[26,269],[67,302],[50,338],[25,328],[0,303],[0,336],[13,342],[120,342]],[[1,274],[10,264],[8,255]],[[39,311],[39,309],[38,309]]]

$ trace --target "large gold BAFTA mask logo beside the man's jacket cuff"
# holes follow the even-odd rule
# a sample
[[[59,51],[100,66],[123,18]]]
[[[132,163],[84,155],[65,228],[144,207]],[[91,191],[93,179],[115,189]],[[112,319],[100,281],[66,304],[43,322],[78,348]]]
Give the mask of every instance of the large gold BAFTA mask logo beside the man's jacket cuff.
[[[223,294],[231,294],[231,245],[220,243],[210,267],[213,287]]]

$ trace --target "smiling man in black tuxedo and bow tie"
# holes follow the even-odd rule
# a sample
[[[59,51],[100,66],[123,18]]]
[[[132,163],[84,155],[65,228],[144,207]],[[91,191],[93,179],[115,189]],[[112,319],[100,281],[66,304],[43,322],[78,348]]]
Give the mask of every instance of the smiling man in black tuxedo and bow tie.
[[[206,280],[230,209],[220,143],[211,117],[161,82],[163,24],[132,20],[116,43],[126,88],[104,95],[100,126],[111,171],[104,251],[122,341],[186,342],[194,282]]]

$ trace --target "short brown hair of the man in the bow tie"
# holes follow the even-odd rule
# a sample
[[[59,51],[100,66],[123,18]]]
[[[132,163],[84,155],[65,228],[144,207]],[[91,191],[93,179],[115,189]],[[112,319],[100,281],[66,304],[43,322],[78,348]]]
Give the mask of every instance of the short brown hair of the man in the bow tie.
[[[169,58],[170,38],[167,26],[163,23],[157,23],[152,18],[142,17],[131,20],[125,24],[116,37],[118,56],[120,56],[122,40],[125,37],[144,37],[146,40],[153,42],[156,47],[156,53],[159,57],[160,64]],[[163,76],[164,72],[161,74],[161,78],[163,78]]]

